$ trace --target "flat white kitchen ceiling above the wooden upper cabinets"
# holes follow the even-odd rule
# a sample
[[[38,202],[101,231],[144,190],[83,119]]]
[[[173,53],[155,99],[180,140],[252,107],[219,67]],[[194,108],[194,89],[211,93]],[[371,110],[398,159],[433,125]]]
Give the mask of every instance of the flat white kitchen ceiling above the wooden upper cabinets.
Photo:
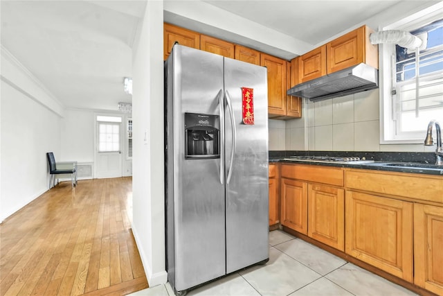
[[[370,19],[395,1],[204,1],[309,44]],[[253,5],[251,5],[253,3]]]

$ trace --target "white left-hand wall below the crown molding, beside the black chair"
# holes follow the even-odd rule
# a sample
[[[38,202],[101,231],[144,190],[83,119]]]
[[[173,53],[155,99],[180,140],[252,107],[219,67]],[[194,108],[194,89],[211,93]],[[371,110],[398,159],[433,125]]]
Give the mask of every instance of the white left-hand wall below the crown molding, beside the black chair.
[[[46,153],[60,155],[60,116],[15,87],[1,80],[0,221],[48,190]]]

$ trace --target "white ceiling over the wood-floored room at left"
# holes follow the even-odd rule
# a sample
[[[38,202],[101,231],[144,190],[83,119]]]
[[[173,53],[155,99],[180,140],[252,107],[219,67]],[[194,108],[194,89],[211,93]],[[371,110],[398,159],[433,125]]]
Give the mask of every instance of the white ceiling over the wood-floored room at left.
[[[1,1],[1,45],[66,107],[131,102],[132,44],[145,1]]]

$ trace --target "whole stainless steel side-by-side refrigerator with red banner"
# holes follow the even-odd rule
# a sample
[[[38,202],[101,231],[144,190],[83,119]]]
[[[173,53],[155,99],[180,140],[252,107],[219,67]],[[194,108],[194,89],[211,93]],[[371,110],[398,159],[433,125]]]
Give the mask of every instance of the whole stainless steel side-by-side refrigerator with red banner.
[[[269,260],[266,76],[179,44],[165,62],[166,264],[179,295]]]

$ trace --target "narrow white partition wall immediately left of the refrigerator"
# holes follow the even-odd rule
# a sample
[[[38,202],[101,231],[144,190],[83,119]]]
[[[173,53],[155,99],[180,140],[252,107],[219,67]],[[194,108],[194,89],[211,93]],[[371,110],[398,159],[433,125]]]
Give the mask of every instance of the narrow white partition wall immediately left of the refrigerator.
[[[133,223],[150,286],[164,284],[163,1],[147,1],[133,50]],[[145,141],[146,139],[146,141]]]

